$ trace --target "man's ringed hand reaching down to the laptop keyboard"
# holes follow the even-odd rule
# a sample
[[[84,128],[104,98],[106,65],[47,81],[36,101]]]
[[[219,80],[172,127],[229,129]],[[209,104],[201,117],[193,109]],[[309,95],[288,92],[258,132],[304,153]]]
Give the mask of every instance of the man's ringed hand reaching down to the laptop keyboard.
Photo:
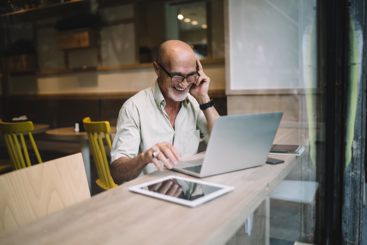
[[[168,142],[157,143],[143,154],[144,161],[154,163],[159,171],[163,170],[159,161],[161,161],[168,169],[172,169],[171,163],[173,165],[177,165],[177,161],[181,160],[181,153],[177,151],[176,147]],[[171,163],[168,160],[170,160]]]

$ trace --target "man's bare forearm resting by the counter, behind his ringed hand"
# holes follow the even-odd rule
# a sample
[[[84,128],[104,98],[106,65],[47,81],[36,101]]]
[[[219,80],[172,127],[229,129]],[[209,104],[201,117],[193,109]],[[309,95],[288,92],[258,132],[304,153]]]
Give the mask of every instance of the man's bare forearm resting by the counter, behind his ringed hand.
[[[143,168],[148,164],[143,162],[142,154],[134,158],[122,156],[111,163],[111,176],[116,184],[122,184],[139,176]]]

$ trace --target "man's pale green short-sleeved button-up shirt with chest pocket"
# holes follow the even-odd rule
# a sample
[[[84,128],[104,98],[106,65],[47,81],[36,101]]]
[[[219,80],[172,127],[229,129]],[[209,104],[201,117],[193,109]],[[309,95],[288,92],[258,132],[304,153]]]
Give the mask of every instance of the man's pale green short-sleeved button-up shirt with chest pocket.
[[[188,94],[175,119],[175,129],[164,111],[165,105],[157,80],[152,87],[140,91],[124,103],[117,119],[111,162],[121,156],[133,158],[161,142],[174,145],[182,159],[197,154],[200,138],[206,143],[209,139],[208,124],[199,104]],[[149,163],[140,176],[155,170],[157,167]]]

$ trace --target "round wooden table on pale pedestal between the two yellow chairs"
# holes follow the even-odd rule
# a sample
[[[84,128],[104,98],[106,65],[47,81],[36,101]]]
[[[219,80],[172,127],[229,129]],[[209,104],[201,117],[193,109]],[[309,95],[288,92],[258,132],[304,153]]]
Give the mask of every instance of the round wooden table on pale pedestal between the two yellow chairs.
[[[111,126],[109,134],[116,133],[116,127]],[[80,152],[83,155],[84,167],[86,168],[86,174],[88,179],[89,190],[92,192],[92,180],[91,180],[91,163],[90,163],[90,151],[89,141],[86,132],[75,132],[74,127],[62,127],[58,129],[50,129],[46,131],[46,134],[53,140],[79,140]],[[103,134],[102,134],[103,137]]]

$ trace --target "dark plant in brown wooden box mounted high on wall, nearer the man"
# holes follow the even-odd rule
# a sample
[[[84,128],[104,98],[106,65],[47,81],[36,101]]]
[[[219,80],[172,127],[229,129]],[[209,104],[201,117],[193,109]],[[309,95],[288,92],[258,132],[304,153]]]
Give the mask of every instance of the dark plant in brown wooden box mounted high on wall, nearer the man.
[[[97,30],[103,25],[101,14],[81,13],[66,15],[56,22],[57,47],[60,50],[93,47]]]

